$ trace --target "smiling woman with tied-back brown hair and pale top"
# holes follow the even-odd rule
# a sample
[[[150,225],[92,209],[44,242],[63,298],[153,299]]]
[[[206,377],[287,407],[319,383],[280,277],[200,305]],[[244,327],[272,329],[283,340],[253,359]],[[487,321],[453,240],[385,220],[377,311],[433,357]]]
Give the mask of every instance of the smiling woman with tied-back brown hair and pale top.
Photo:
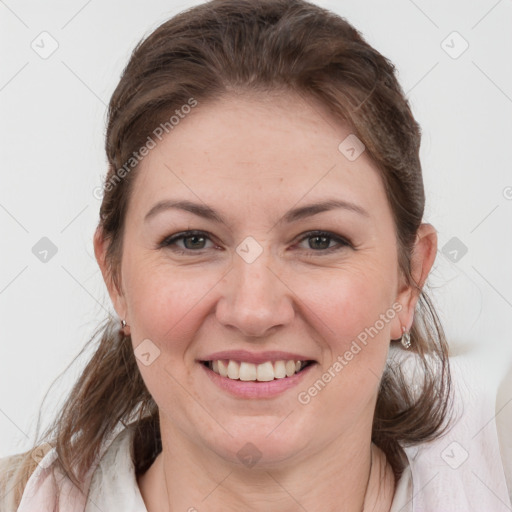
[[[310,3],[216,0],[142,41],[94,237],[120,326],[4,460],[4,508],[509,509],[496,431],[461,478],[489,411],[452,407],[419,146],[392,64]]]

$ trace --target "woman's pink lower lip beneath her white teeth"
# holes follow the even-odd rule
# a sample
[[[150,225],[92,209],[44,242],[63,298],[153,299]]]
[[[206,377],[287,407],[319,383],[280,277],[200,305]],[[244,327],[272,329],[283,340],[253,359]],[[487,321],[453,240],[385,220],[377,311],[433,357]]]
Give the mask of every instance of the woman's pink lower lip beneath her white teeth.
[[[202,363],[198,364],[202,366],[203,370],[214,384],[233,396],[239,398],[271,398],[299,384],[316,363],[306,366],[304,370],[295,373],[291,377],[274,379],[267,382],[229,379],[228,377],[222,377],[218,373],[215,373]]]

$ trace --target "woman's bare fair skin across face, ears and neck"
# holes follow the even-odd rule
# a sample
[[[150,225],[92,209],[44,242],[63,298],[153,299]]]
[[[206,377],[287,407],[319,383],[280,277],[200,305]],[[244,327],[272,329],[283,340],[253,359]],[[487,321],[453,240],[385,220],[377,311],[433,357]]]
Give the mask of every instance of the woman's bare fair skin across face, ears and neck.
[[[338,150],[350,133],[323,106],[292,94],[200,103],[134,171],[119,290],[97,231],[96,257],[134,349],[149,339],[160,350],[149,366],[137,360],[162,431],[163,451],[138,479],[149,512],[361,510],[380,377],[390,340],[412,325],[418,296],[399,274],[379,171],[364,152],[349,161]],[[369,216],[334,209],[277,224],[291,208],[332,197]],[[226,222],[176,209],[144,221],[170,198],[207,204]],[[211,236],[197,249],[190,238],[158,247],[189,229]],[[339,250],[328,253],[305,238],[311,230],[353,247],[331,238]],[[236,253],[247,236],[263,250],[252,263]],[[412,260],[420,287],[436,249],[435,229],[423,224]],[[308,404],[299,403],[298,392],[393,304],[401,311]],[[229,349],[291,351],[318,364],[280,396],[233,398],[196,361]],[[237,457],[248,442],[261,453],[252,468]],[[382,457],[374,464],[385,465]],[[388,495],[392,485],[386,480]]]

